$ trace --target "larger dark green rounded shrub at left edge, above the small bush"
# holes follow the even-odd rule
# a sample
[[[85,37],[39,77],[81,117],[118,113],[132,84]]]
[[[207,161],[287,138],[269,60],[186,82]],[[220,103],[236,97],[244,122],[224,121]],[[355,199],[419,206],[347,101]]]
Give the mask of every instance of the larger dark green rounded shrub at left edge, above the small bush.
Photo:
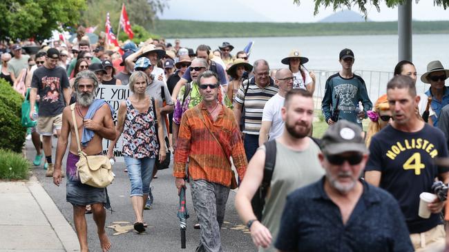
[[[0,149],[21,152],[26,128],[20,122],[22,96],[0,79]]]

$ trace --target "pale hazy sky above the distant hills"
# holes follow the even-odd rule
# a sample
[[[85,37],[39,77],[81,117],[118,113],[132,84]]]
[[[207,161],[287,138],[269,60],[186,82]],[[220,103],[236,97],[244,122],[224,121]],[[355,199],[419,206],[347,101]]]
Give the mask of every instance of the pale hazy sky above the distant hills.
[[[313,0],[301,0],[300,6],[296,6],[293,0],[168,0],[167,3],[169,8],[159,15],[160,19],[314,23],[334,13],[332,7],[320,8],[314,17]],[[412,6],[414,20],[449,20],[449,8],[435,7],[432,0],[421,0],[419,3],[412,0]],[[397,8],[388,8],[383,1],[381,12],[369,3],[366,8],[368,19],[372,21],[397,21]],[[351,10],[359,12],[358,8]]]

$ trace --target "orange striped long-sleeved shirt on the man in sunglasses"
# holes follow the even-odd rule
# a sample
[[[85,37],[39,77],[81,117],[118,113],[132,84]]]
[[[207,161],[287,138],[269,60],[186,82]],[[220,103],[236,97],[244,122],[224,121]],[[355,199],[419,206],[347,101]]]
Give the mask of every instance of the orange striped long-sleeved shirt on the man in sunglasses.
[[[247,169],[247,157],[236,119],[231,109],[219,105],[222,111],[213,121],[203,103],[188,109],[183,115],[175,151],[173,176],[184,178],[187,158],[189,158],[189,176],[193,180],[207,180],[229,187],[231,185],[232,157],[240,179]],[[202,118],[199,113],[202,113]],[[213,138],[211,132],[220,141]]]

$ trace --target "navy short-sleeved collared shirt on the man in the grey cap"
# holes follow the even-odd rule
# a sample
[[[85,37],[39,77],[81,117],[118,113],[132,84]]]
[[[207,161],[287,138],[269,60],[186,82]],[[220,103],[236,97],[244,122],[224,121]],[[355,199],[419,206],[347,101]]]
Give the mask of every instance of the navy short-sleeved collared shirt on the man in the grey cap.
[[[349,220],[324,191],[323,179],[287,196],[276,248],[281,251],[414,251],[399,204],[363,183]]]

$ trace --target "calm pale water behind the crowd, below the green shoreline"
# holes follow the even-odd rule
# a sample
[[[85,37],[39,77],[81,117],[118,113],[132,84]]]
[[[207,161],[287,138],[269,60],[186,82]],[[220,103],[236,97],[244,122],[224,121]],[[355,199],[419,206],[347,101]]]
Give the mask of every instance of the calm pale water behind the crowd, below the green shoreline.
[[[309,58],[305,67],[314,70],[338,70],[338,53],[343,48],[354,51],[354,70],[393,72],[394,65],[398,62],[397,35],[181,39],[181,45],[195,50],[199,44],[204,43],[218,49],[223,41],[235,47],[234,54],[245,48],[249,41],[254,41],[250,61],[266,59],[272,68],[283,67],[280,60],[294,48]],[[414,35],[413,62],[417,71],[426,72],[427,63],[433,60],[439,60],[449,67],[449,34]]]

